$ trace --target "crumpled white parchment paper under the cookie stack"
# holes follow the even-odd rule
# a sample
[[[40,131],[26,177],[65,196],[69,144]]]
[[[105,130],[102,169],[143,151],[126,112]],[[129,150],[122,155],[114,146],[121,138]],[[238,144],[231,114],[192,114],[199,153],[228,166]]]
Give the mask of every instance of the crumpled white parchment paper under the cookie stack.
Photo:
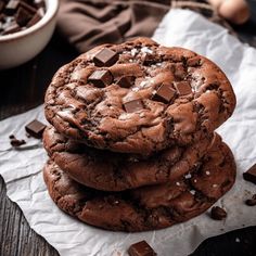
[[[256,50],[242,44],[225,28],[184,10],[171,10],[155,31],[154,39],[206,55],[226,72],[233,85],[236,110],[218,129],[238,164],[235,185],[217,202],[227,209],[228,218],[215,221],[203,214],[159,231],[123,233],[103,231],[68,217],[52,203],[46,191],[41,168],[47,155],[41,142],[29,139],[26,150],[13,150],[9,143],[10,133],[25,138],[24,125],[34,118],[43,120],[42,106],[39,106],[0,123],[0,174],[7,182],[8,196],[20,205],[30,227],[61,255],[127,255],[131,243],[146,240],[161,256],[182,256],[208,236],[256,225],[253,207],[243,203],[256,192],[256,187],[242,179],[242,172],[256,162]]]

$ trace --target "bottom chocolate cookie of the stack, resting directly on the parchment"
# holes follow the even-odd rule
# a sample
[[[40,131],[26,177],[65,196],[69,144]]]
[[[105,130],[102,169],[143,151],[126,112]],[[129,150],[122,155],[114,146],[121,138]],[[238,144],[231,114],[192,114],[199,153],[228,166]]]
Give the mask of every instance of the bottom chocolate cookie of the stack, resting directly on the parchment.
[[[222,143],[190,176],[123,192],[81,185],[51,161],[43,175],[52,200],[67,214],[99,228],[135,232],[166,228],[205,212],[234,183],[235,164]]]

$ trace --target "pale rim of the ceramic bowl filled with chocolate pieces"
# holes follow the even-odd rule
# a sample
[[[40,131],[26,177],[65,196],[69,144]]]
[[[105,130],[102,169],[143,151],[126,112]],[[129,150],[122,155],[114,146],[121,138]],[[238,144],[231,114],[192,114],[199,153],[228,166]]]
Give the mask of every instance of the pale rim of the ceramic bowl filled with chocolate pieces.
[[[50,23],[56,16],[60,1],[59,0],[44,0],[44,2],[46,2],[47,11],[39,22],[37,22],[35,25],[22,31],[0,36],[0,42],[12,41],[18,38],[26,37],[27,35],[35,34],[36,31],[44,27],[48,23]]]

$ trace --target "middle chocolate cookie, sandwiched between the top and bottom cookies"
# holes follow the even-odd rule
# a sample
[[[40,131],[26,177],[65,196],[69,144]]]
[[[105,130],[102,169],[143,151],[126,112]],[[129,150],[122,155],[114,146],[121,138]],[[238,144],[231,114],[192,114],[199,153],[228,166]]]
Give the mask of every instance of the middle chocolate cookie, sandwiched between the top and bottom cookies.
[[[214,138],[214,139],[213,139]],[[174,145],[150,158],[97,150],[66,139],[53,127],[43,133],[50,157],[76,181],[98,190],[121,191],[176,180],[185,175],[221,139],[210,135],[189,146]]]

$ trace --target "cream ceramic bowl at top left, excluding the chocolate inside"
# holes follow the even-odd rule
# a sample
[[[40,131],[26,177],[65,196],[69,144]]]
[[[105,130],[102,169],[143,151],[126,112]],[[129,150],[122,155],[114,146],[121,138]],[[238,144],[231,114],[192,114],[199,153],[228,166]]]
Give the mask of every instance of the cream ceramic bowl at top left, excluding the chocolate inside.
[[[56,24],[59,0],[44,0],[46,14],[31,27],[0,36],[0,69],[18,66],[36,56],[49,42]]]

